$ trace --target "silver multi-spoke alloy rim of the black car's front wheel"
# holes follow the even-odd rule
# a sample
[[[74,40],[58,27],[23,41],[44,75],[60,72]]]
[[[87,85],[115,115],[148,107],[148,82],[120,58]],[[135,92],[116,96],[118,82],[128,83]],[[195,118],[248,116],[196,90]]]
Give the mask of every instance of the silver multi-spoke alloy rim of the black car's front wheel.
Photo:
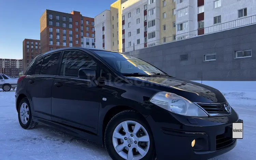
[[[126,160],[143,158],[150,147],[146,129],[135,121],[120,123],[114,130],[112,141],[118,155]]]

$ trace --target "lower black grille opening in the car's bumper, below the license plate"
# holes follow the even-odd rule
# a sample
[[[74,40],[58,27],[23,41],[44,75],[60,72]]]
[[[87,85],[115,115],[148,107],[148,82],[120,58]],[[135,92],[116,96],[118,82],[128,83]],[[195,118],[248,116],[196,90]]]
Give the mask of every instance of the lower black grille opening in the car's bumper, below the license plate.
[[[233,145],[235,139],[226,137],[225,134],[216,135],[216,150],[221,150]]]

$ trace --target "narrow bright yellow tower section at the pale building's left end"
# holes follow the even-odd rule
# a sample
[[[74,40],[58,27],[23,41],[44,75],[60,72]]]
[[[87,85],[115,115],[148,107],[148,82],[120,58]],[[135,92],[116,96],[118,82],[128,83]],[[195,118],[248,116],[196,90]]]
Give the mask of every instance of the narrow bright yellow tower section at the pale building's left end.
[[[119,31],[119,26],[122,24],[122,15],[121,15],[121,0],[117,0],[110,5],[111,12],[111,50],[118,50],[119,47],[122,47],[122,39],[119,41],[119,33],[122,33],[122,30]],[[122,34],[121,34],[122,35]]]

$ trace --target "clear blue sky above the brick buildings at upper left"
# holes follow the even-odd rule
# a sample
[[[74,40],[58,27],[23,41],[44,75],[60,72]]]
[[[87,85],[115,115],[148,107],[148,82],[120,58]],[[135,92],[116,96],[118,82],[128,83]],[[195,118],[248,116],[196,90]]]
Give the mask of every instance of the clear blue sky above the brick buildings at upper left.
[[[25,38],[40,39],[40,17],[46,9],[95,17],[116,0],[0,0],[0,59],[22,59]]]

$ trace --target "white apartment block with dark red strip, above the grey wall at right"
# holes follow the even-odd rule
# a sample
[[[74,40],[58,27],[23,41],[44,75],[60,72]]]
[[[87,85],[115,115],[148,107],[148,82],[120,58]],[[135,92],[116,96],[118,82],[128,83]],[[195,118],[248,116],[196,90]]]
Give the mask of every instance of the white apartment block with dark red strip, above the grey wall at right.
[[[176,0],[176,38],[246,25],[255,21],[255,7],[252,0]]]

